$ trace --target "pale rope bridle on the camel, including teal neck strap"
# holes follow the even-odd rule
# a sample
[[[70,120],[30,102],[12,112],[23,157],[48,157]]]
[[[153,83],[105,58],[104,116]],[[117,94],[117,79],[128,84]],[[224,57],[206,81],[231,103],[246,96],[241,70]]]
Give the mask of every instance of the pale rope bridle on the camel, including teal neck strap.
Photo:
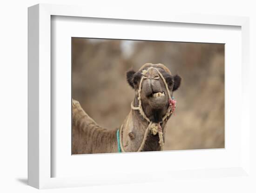
[[[168,93],[169,106],[168,106],[168,109],[167,109],[167,113],[162,118],[162,122],[167,120],[168,117],[171,116],[174,113],[175,105],[176,105],[176,101],[173,98],[173,91],[172,91],[174,84],[172,84],[172,87],[170,88],[170,90],[171,90],[171,92],[170,92],[169,88],[168,88],[168,84],[165,81],[165,78],[162,76],[162,73],[157,68],[149,67],[147,70],[143,70],[142,73],[141,73],[142,77],[141,77],[139,90],[138,90],[139,105],[138,105],[138,107],[135,107],[133,102],[131,103],[131,109],[138,110],[140,112],[141,116],[148,122],[148,127],[147,127],[147,129],[145,131],[145,134],[143,136],[141,146],[137,150],[138,152],[140,152],[142,150],[142,148],[144,147],[149,131],[151,131],[151,133],[153,135],[156,135],[158,133],[158,135],[159,135],[159,144],[160,144],[161,150],[162,150],[163,144],[164,144],[161,122],[155,123],[155,122],[150,121],[148,119],[148,117],[146,116],[146,114],[144,113],[143,108],[142,108],[142,104],[141,104],[141,85],[142,85],[143,80],[148,78],[148,77],[145,76],[145,74],[149,71],[149,69],[152,69],[152,68],[154,68],[158,72],[159,76],[162,78],[162,81],[163,81],[163,83],[165,85],[165,88],[167,90],[167,93]],[[125,150],[123,148],[123,145],[122,145],[122,129],[123,129],[123,125],[121,125],[120,133],[119,133],[119,129],[117,130],[118,131],[117,132],[117,140],[118,140],[118,151],[119,152],[125,152]],[[120,140],[119,140],[119,138],[120,138]]]

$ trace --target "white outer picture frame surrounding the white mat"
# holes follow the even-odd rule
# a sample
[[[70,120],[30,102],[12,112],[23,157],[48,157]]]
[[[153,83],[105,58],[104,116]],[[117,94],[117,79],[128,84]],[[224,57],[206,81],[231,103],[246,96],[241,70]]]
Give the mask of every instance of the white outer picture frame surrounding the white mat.
[[[107,10],[95,12],[83,6],[63,6],[39,4],[28,8],[28,184],[36,188],[54,187],[76,187],[102,184],[118,184],[131,182],[149,182],[176,178],[194,177],[223,177],[223,176],[249,176],[249,18],[236,16],[216,15],[177,15],[169,13],[139,13],[121,12],[113,9],[111,15]],[[205,169],[192,168],[191,170],[177,170],[170,173],[164,171],[152,171],[151,173],[130,172],[124,175],[111,176],[102,174],[100,177],[95,174],[88,174],[82,177],[53,177],[51,171],[54,163],[51,156],[51,80],[54,79],[51,73],[51,16],[69,16],[84,18],[105,18],[105,19],[128,19],[174,22],[219,26],[240,26],[242,39],[242,79],[241,79],[241,138],[239,148],[241,154],[232,167]],[[226,72],[228,73],[228,72]],[[244,100],[246,99],[246,100]],[[152,154],[151,154],[152,155]],[[94,155],[95,156],[95,155]],[[99,156],[99,155],[96,155]],[[127,157],[148,156],[148,154],[127,154]],[[157,155],[159,156],[159,154]],[[190,168],[191,169],[191,168]],[[135,175],[136,174],[136,175]],[[156,178],[151,178],[159,176]],[[160,177],[161,176],[161,177]]]

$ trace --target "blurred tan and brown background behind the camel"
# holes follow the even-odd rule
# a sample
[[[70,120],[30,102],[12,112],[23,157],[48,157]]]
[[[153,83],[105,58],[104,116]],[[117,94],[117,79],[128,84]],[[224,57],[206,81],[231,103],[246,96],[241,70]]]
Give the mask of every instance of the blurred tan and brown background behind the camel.
[[[164,150],[224,148],[224,44],[72,38],[72,60],[73,98],[100,126],[130,111],[126,71],[162,63],[182,77]]]

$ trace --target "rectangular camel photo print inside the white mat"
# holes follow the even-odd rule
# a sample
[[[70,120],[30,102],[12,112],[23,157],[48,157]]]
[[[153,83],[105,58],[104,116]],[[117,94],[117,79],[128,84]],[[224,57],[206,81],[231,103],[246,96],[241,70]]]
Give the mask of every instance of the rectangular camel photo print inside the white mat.
[[[71,41],[72,154],[224,148],[224,44]]]

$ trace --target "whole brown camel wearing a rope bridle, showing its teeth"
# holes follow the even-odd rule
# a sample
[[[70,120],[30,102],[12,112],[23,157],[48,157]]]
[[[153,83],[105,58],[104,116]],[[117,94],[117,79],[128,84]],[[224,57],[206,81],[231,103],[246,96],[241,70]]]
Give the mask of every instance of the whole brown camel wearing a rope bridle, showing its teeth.
[[[72,154],[160,151],[165,141],[166,123],[174,113],[173,91],[181,84],[163,64],[144,64],[127,72],[135,90],[131,110],[120,127],[99,126],[72,100]]]

